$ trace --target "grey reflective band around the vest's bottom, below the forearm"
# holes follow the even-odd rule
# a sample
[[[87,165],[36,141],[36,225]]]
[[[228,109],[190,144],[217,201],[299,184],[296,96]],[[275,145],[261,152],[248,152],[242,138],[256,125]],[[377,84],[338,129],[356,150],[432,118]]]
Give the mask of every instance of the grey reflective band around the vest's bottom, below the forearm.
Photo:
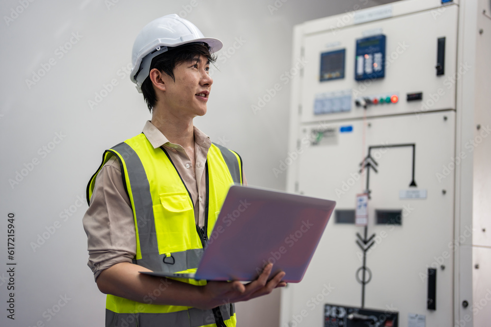
[[[233,316],[232,305],[220,305],[223,320]],[[189,312],[189,313],[188,313]],[[212,310],[190,308],[168,313],[116,313],[106,309],[106,327],[200,327],[215,324]]]

